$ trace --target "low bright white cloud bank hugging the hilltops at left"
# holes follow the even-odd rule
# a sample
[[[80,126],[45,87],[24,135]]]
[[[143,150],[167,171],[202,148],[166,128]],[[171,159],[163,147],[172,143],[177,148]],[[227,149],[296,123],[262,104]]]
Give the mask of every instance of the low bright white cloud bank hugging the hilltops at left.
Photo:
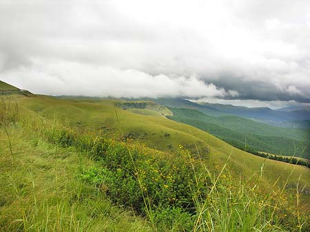
[[[32,61],[30,67],[19,67],[3,73],[5,80],[19,83],[34,93],[52,95],[114,96],[114,97],[223,97],[236,92],[205,84],[195,76],[152,76],[137,70],[58,61]],[[193,91],[195,89],[195,91]]]

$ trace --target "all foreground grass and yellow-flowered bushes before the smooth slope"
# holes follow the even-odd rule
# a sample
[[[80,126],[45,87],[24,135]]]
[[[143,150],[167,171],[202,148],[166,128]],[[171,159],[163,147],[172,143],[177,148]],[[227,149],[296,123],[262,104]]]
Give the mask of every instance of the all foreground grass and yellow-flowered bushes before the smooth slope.
[[[123,125],[115,109],[114,116]],[[265,162],[248,176],[234,168],[233,154],[220,162],[181,143],[174,152],[158,151],[129,137],[113,138],[105,128],[81,131],[8,101],[2,102],[1,122],[0,231],[310,228],[302,178],[287,186],[296,175],[292,165],[269,184]]]

